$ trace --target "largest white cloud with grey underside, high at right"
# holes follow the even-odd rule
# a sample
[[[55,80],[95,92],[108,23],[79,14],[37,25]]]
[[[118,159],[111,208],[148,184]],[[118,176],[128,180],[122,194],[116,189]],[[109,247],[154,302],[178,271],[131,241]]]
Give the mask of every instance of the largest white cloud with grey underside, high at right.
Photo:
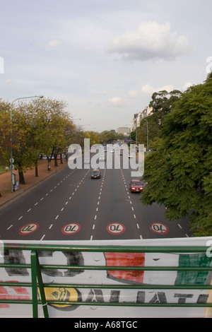
[[[120,54],[125,60],[175,59],[191,50],[189,40],[172,32],[170,23],[148,21],[137,30],[124,32],[107,47],[108,53]]]

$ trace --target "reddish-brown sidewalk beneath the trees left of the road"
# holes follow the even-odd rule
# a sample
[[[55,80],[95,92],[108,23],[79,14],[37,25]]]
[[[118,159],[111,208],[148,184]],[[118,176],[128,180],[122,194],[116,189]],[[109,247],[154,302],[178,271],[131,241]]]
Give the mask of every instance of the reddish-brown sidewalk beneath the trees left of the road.
[[[20,184],[19,189],[11,193],[11,172],[4,172],[0,174],[0,206],[3,206],[8,201],[11,201],[13,198],[16,198],[20,194],[23,194],[25,191],[30,190],[33,186],[42,182],[47,177],[50,177],[52,174],[59,172],[64,167],[67,166],[67,162],[63,161],[61,164],[60,160],[57,160],[57,167],[54,166],[54,160],[51,161],[51,170],[47,170],[48,164],[47,160],[38,161],[38,177],[35,177],[35,167],[32,170],[28,169],[24,173],[25,184]],[[13,171],[13,174],[16,174],[16,181],[18,181],[18,171]]]

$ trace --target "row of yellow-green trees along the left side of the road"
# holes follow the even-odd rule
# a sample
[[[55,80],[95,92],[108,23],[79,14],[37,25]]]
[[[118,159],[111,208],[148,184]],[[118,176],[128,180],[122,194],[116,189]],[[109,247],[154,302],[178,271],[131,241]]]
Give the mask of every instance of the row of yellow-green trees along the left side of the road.
[[[11,104],[0,99],[0,164],[10,167],[11,148],[13,165],[19,174],[20,184],[25,184],[24,172],[35,167],[40,153],[54,156],[57,166],[57,155],[66,153],[66,148],[73,143],[83,147],[84,138],[94,143],[112,143],[122,138],[114,130],[83,131],[81,126],[73,124],[71,114],[66,112],[66,102],[50,98],[36,98],[31,102],[13,104],[11,121]],[[62,162],[62,159],[61,159]],[[1,193],[0,193],[1,196]]]

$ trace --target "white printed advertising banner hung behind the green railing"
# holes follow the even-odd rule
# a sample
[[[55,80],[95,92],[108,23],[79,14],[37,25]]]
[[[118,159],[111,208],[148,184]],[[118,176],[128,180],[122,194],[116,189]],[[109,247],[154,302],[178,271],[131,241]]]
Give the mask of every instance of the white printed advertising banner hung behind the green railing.
[[[9,244],[10,241],[4,243]],[[2,249],[0,263],[30,263],[30,251]],[[57,244],[70,246],[210,246],[212,237],[196,237],[181,239],[142,239],[119,241],[56,241],[56,242],[11,242],[16,244]],[[40,264],[58,264],[65,266],[211,266],[211,250],[205,253],[122,253],[92,251],[39,251]],[[61,300],[71,304],[48,304],[50,317],[208,317],[211,309],[206,307],[169,307],[170,303],[206,304],[212,302],[208,289],[160,289],[161,285],[211,285],[211,271],[111,271],[110,268],[96,271],[93,269],[42,269],[44,283],[52,283],[45,287],[47,300]],[[17,287],[13,283],[30,283],[30,268],[0,268],[0,281],[11,285],[0,286],[0,300],[31,300],[31,287]],[[61,284],[61,287],[55,286]],[[70,287],[63,285],[69,284]],[[76,286],[75,286],[76,285]],[[112,288],[86,287],[77,285],[117,285]],[[129,288],[120,289],[118,285],[160,285],[158,289]],[[201,288],[201,287],[200,287]],[[40,296],[39,290],[37,290]],[[88,305],[72,302],[89,302]],[[92,304],[90,304],[92,302]],[[108,305],[98,306],[98,302]],[[124,304],[161,303],[161,307],[110,306],[114,302]],[[164,305],[167,304],[167,307]],[[43,316],[42,305],[39,304],[40,317]],[[0,317],[32,317],[31,304],[0,303]]]

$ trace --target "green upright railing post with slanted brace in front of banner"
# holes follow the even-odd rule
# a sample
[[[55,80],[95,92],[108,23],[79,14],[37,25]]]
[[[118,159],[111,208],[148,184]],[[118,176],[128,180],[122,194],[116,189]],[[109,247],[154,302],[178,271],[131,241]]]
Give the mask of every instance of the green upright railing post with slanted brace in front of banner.
[[[47,309],[47,301],[45,297],[45,290],[42,283],[42,274],[40,271],[40,263],[37,257],[37,251],[31,251],[31,280],[32,280],[32,296],[33,296],[33,318],[38,317],[37,312],[37,281],[40,290],[40,298],[45,318],[49,317]]]

